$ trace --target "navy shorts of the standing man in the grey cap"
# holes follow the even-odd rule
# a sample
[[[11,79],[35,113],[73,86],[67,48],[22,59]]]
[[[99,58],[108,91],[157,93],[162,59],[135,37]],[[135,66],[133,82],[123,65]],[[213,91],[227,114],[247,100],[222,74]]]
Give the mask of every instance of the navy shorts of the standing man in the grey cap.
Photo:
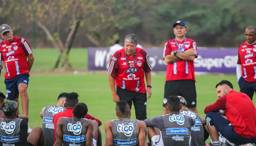
[[[13,100],[15,98],[19,98],[19,90],[18,90],[19,84],[25,83],[28,85],[28,81],[29,81],[28,73],[20,74],[15,78],[5,79],[6,99]]]

